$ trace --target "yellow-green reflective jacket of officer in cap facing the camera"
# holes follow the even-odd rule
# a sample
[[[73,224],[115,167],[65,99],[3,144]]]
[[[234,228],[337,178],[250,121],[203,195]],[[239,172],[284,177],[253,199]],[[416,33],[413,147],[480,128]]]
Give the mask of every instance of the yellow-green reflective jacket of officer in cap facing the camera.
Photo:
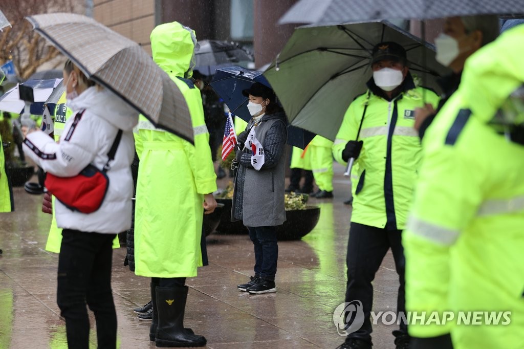
[[[364,146],[356,163],[358,183],[354,191],[351,222],[403,229],[420,163],[420,138],[413,129],[414,110],[426,103],[434,107],[439,97],[430,90],[415,87],[411,76],[406,89],[387,101],[371,91],[350,105],[333,145],[333,157],[342,160],[346,143],[355,140],[364,107],[366,114],[358,140]],[[408,85],[409,83],[409,85]],[[410,88],[411,87],[411,88]],[[423,91],[425,90],[425,91]]]

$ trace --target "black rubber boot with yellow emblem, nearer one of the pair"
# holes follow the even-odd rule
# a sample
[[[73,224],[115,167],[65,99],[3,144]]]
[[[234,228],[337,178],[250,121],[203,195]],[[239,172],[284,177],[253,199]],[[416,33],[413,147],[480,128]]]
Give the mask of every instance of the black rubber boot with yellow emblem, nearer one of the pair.
[[[160,347],[204,346],[204,336],[184,329],[185,301],[188,287],[156,287],[155,312],[158,329],[155,344]]]

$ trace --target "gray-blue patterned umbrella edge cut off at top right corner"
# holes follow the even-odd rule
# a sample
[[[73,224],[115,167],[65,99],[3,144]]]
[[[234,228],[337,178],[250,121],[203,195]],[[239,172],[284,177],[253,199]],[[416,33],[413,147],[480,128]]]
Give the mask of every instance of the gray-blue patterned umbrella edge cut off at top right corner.
[[[300,0],[279,24],[333,25],[377,19],[429,19],[524,13],[522,0]]]

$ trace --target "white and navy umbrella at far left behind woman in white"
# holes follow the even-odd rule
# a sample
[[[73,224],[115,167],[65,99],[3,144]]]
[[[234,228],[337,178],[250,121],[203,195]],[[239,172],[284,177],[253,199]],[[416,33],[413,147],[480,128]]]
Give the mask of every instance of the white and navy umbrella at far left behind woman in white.
[[[35,102],[31,103],[29,113],[42,115],[43,105],[61,83],[62,79],[27,80],[21,83],[20,85],[28,86],[33,90]],[[16,114],[21,114],[24,111],[25,102],[20,99],[18,86],[16,85],[0,97],[0,110]]]

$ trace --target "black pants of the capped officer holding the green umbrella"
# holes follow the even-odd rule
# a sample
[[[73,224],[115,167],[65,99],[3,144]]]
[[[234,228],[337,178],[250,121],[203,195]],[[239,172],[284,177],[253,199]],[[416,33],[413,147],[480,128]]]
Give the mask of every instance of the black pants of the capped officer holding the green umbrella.
[[[346,302],[359,300],[364,310],[364,324],[356,332],[350,333],[347,339],[358,338],[371,342],[372,325],[369,319],[373,305],[372,281],[391,248],[395,259],[395,268],[399,276],[397,312],[405,312],[404,270],[405,259],[401,244],[401,230],[386,230],[364,224],[351,223],[350,237],[347,244],[347,287]],[[379,309],[385,310],[385,309]],[[353,319],[350,319],[351,324]],[[408,333],[407,324],[400,324],[399,331],[393,331],[395,336]]]

